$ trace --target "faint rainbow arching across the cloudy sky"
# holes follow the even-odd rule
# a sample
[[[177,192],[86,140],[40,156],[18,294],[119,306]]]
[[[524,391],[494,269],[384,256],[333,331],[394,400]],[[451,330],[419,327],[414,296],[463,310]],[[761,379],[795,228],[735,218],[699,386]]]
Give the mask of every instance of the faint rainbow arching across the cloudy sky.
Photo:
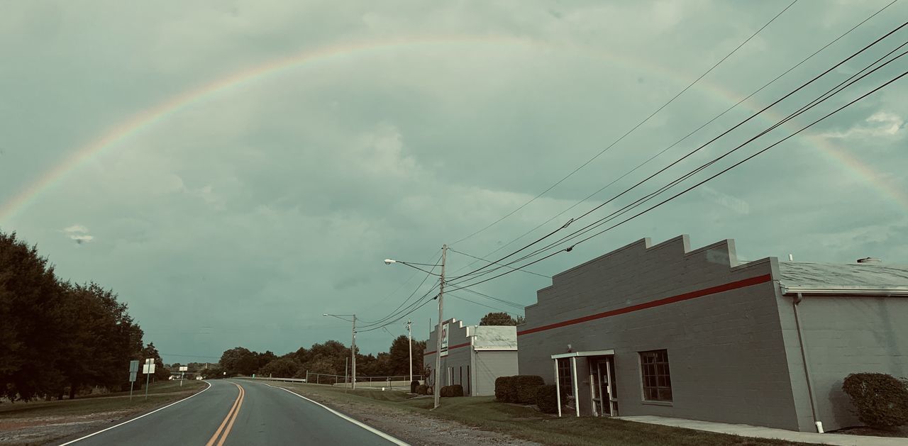
[[[0,223],[14,218],[34,203],[42,193],[54,188],[54,185],[61,183],[64,178],[84,165],[88,160],[97,157],[114,147],[120,147],[123,142],[132,138],[144,130],[161,124],[167,118],[174,114],[179,114],[196,104],[211,100],[218,94],[224,94],[232,90],[242,88],[249,84],[262,82],[265,79],[276,76],[291,69],[303,66],[312,66],[315,64],[327,64],[332,61],[341,61],[354,57],[361,57],[371,54],[379,54],[383,51],[392,51],[400,49],[418,49],[426,48],[438,50],[439,47],[456,46],[456,45],[505,45],[505,46],[522,46],[531,49],[553,49],[565,50],[564,47],[540,43],[538,41],[520,39],[513,37],[500,36],[446,36],[446,37],[411,37],[386,41],[370,41],[363,43],[331,45],[319,49],[302,52],[301,54],[291,55],[281,59],[271,61],[267,64],[254,66],[242,70],[210,84],[203,84],[201,87],[191,89],[183,94],[179,94],[157,104],[152,108],[146,109],[138,114],[133,115],[129,120],[114,126],[113,128],[101,134],[97,139],[85,144],[67,156],[62,162],[55,164],[53,168],[44,172],[37,180],[29,183],[18,193],[0,205]],[[605,53],[593,53],[583,48],[567,48],[568,50],[579,51],[582,54],[602,59],[609,64],[643,69],[646,73],[655,74],[659,77],[669,78],[678,83],[687,84],[689,79],[679,76],[666,70],[662,66],[650,64],[646,61],[633,59],[626,56],[619,56]],[[706,84],[703,81],[696,84],[696,88],[705,90],[714,95],[721,96],[725,101],[737,102],[740,97],[731,92],[717,87],[716,85]],[[778,119],[778,118],[776,118]],[[878,192],[883,193],[893,199],[894,203],[899,203],[903,209],[908,209],[908,194],[886,183],[882,175],[873,171],[869,166],[863,164],[860,160],[847,154],[843,149],[835,146],[822,136],[807,135],[804,138],[810,140],[814,146],[821,149],[821,152],[835,164],[840,166],[844,171],[856,175],[863,179],[867,184],[873,186]]]

